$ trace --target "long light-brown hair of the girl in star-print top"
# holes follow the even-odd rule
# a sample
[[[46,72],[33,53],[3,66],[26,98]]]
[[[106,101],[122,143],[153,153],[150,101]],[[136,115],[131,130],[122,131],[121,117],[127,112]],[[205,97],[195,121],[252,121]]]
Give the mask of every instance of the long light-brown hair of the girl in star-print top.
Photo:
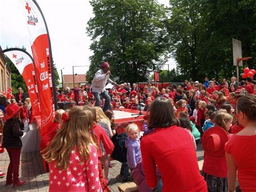
[[[72,107],[69,118],[46,149],[41,151],[46,162],[56,161],[59,169],[67,170],[71,151],[77,147],[81,162],[90,157],[90,144],[94,143],[93,118],[89,109]],[[92,134],[92,135],[91,135]]]

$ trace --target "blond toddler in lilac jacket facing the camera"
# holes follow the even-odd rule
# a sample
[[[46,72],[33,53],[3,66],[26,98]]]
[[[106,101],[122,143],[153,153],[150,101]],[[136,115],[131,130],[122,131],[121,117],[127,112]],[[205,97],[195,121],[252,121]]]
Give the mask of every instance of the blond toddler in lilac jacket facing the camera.
[[[130,170],[133,170],[141,160],[140,132],[141,130],[139,130],[137,124],[131,123],[126,127],[128,138],[125,141],[125,147],[127,148],[127,164]]]

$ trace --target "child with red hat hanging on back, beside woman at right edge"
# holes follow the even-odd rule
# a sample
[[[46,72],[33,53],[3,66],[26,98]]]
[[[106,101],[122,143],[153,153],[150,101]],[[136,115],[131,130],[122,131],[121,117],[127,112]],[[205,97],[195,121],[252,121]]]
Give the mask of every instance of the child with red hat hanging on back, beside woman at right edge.
[[[233,117],[227,112],[217,112],[214,117],[215,126],[204,132],[202,145],[204,148],[203,173],[208,191],[228,191],[225,158],[225,143]]]

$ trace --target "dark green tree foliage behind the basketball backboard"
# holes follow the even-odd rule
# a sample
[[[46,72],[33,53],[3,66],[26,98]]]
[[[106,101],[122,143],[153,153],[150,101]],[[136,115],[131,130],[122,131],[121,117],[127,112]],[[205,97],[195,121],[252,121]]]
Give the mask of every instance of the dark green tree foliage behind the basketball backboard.
[[[204,76],[236,74],[232,38],[242,41],[243,57],[253,56],[245,66],[255,68],[255,1],[170,0],[168,14],[171,51],[186,78],[200,80]]]

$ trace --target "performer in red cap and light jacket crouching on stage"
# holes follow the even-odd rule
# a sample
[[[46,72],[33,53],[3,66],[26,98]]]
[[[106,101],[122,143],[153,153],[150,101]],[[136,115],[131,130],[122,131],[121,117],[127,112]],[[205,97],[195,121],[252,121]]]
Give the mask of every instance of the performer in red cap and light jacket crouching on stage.
[[[101,69],[96,72],[94,75],[92,85],[90,90],[93,93],[94,98],[96,99],[95,106],[100,106],[101,104],[101,96],[105,99],[105,104],[103,107],[103,111],[108,111],[110,109],[110,96],[108,91],[105,89],[106,83],[116,85],[115,82],[110,80],[110,65],[108,62],[103,62],[101,64]]]

